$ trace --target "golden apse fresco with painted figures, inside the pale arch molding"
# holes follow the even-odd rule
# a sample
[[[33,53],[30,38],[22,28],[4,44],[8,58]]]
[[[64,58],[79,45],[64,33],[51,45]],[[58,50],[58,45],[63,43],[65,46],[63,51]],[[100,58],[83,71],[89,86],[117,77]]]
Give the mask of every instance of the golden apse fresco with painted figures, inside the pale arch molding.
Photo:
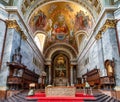
[[[71,2],[53,2],[37,8],[29,20],[36,31],[46,32],[44,50],[54,43],[67,43],[77,51],[75,32],[90,33],[94,20],[83,6]]]

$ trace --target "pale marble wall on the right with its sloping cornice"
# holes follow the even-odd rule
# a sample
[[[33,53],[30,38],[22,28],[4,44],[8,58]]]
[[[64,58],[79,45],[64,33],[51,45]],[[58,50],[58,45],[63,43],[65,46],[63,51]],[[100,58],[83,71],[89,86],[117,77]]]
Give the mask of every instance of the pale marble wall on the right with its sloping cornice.
[[[116,49],[113,49],[113,43],[117,44],[117,41],[115,39],[116,33],[115,29],[108,29],[102,34],[102,39],[99,39],[95,41],[95,36],[98,34],[99,30],[105,23],[106,19],[114,19],[113,11],[115,9],[111,9],[109,12],[106,10],[103,12],[103,15],[101,18],[99,18],[99,21],[97,22],[93,33],[91,35],[90,40],[88,40],[87,47],[83,50],[81,54],[78,56],[78,72],[77,77],[82,76],[84,73],[88,70],[92,70],[93,68],[99,68],[100,69],[100,76],[106,76],[106,69],[104,66],[104,61],[106,59],[113,59],[115,58],[115,53],[118,55],[118,46],[114,46]],[[111,36],[114,36],[112,37]],[[112,39],[111,39],[112,38]],[[94,42],[95,41],[95,42]],[[114,42],[112,42],[114,41]],[[116,56],[117,56],[116,55]],[[89,58],[89,63],[87,65],[84,65],[86,58]],[[118,59],[118,58],[117,58]],[[117,69],[117,67],[116,67]],[[118,83],[118,82],[117,82]]]

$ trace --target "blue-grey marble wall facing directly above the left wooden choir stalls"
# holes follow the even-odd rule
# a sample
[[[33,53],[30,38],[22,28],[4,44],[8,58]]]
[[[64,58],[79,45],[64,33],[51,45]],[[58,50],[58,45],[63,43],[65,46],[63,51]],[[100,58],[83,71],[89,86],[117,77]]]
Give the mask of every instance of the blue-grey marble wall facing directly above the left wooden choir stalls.
[[[20,45],[21,43],[21,45]],[[35,55],[34,50],[31,48],[31,46],[28,44],[26,40],[23,40],[19,34],[19,32],[15,31],[12,41],[12,51],[11,51],[11,61],[12,56],[15,53],[15,49],[17,49],[20,46],[21,48],[21,55],[22,55],[22,64],[26,65],[27,68],[31,71],[35,71],[36,73],[40,73],[40,69],[34,65],[33,63],[33,57]]]

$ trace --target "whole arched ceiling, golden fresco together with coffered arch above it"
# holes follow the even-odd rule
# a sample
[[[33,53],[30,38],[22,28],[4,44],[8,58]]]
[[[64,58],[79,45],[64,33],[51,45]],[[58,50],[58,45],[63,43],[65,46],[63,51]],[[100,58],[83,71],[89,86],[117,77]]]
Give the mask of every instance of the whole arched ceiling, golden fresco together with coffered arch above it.
[[[75,32],[89,35],[101,7],[99,0],[24,0],[21,9],[33,33],[46,32],[44,51],[55,43],[67,43],[78,52]]]

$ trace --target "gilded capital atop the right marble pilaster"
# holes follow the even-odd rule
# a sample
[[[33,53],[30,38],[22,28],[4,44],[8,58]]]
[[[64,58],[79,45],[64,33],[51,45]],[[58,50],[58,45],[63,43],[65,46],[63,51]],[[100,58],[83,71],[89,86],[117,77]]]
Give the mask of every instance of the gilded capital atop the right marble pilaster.
[[[116,20],[107,19],[101,30],[105,32],[108,28],[115,28]]]

